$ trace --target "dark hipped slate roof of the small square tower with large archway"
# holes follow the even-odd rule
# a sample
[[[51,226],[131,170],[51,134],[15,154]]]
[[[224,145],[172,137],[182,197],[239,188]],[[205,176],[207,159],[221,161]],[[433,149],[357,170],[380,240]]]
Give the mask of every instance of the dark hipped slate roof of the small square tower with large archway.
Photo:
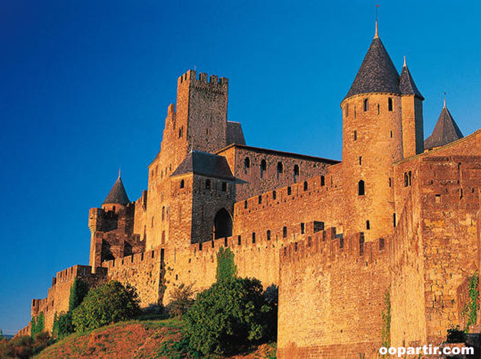
[[[193,173],[207,177],[234,180],[231,167],[224,156],[213,155],[202,151],[191,151],[170,175],[170,177]]]

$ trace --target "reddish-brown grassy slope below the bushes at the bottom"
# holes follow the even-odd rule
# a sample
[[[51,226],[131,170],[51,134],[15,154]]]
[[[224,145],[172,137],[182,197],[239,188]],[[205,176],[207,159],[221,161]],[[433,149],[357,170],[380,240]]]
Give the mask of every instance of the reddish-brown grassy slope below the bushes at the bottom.
[[[176,319],[125,321],[72,334],[36,358],[196,358],[182,340]],[[228,358],[275,358],[275,345],[239,348]]]

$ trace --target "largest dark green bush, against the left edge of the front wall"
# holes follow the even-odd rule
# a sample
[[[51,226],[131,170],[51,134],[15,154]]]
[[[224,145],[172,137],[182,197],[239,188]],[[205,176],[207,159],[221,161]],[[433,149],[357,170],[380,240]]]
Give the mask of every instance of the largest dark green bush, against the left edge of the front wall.
[[[185,336],[191,348],[224,354],[238,345],[268,339],[277,308],[263,297],[259,280],[223,280],[198,295],[187,310]]]

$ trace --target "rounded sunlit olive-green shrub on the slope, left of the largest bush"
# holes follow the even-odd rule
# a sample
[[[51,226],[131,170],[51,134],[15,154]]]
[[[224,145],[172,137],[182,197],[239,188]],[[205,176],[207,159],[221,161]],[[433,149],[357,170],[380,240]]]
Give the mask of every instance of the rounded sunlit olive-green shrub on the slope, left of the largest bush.
[[[72,313],[75,332],[84,332],[132,319],[140,312],[139,296],[134,287],[115,280],[92,289]]]

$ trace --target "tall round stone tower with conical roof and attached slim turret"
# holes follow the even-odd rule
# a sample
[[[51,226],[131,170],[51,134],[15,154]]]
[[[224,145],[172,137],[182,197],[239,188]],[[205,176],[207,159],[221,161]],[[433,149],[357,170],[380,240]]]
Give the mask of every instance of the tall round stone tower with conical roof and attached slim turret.
[[[422,96],[407,66],[399,77],[376,32],[341,103],[348,232],[371,240],[392,232],[392,162],[423,151]]]

